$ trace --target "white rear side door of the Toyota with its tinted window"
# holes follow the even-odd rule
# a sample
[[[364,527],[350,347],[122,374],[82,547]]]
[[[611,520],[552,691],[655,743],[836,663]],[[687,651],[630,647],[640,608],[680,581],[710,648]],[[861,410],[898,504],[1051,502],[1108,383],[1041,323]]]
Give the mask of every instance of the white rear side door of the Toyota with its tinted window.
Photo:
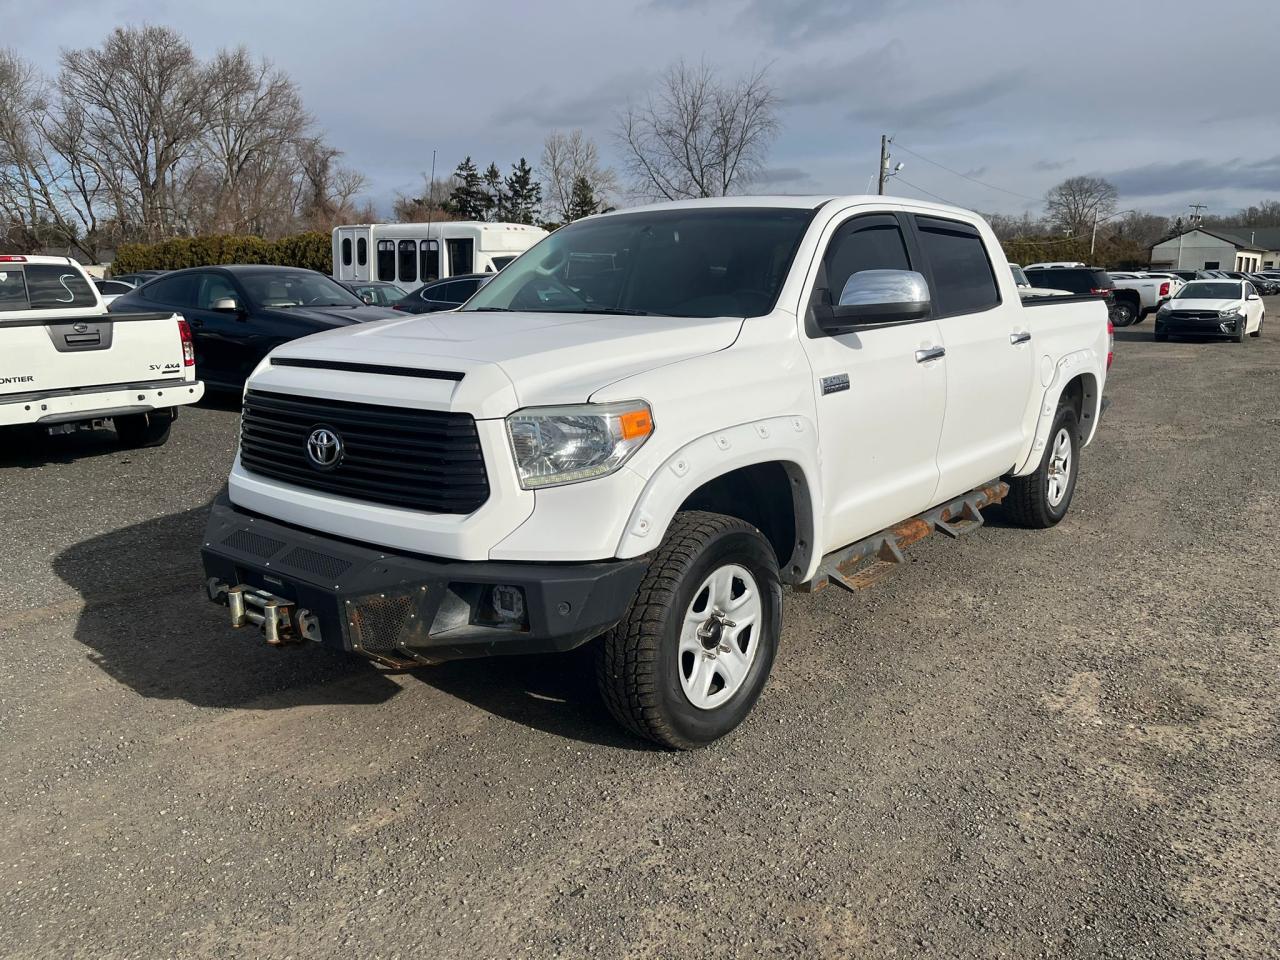
[[[1007,474],[1023,443],[1036,346],[1016,296],[1009,302],[974,224],[913,215],[915,243],[946,349],[947,411],[934,503]]]

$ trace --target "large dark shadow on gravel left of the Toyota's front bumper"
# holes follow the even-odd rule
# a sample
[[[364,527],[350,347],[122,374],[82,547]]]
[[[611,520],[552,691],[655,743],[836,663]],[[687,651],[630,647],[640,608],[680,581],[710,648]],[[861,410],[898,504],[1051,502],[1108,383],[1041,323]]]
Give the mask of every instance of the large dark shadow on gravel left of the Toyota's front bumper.
[[[372,663],[314,645],[276,649],[233,631],[205,599],[200,538],[209,507],[68,548],[54,571],[79,593],[76,639],[142,696],[197,707],[376,704],[399,686]]]

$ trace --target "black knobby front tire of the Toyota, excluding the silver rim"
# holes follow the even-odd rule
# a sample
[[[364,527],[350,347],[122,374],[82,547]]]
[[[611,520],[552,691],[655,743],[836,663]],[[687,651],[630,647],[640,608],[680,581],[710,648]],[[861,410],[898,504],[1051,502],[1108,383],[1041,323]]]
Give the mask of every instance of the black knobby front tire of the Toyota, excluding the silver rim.
[[[762,600],[759,644],[746,678],[731,699],[699,709],[678,676],[680,630],[694,591],[716,568],[745,567]],[[677,513],[649,562],[640,589],[616,627],[596,643],[596,681],[609,713],[637,736],[672,750],[690,750],[737,727],[755,705],[782,630],[778,562],[764,535],[721,513]]]

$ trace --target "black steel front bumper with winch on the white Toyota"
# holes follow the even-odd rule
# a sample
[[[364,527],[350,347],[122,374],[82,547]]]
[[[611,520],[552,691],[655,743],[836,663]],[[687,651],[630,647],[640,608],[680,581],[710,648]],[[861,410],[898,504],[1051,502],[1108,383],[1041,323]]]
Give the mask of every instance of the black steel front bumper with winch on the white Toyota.
[[[394,666],[579,646],[622,618],[648,563],[426,559],[278,524],[225,495],[201,557],[209,596],[236,626]]]

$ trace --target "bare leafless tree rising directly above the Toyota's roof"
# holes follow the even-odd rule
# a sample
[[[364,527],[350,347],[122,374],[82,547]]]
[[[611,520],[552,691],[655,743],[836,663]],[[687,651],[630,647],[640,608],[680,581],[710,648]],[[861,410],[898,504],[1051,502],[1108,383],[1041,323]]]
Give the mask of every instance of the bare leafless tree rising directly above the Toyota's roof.
[[[681,200],[741,189],[777,136],[777,104],[764,69],[724,83],[707,64],[677,63],[657,91],[618,118],[634,191]]]

